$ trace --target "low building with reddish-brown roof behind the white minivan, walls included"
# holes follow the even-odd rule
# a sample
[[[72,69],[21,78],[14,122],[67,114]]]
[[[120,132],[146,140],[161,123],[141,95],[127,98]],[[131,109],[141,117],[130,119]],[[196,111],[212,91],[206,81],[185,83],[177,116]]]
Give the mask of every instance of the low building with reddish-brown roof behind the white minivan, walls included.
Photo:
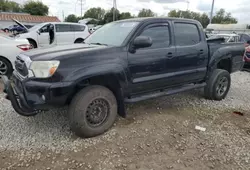
[[[11,25],[15,25],[12,19],[16,19],[23,25],[29,26],[34,26],[42,22],[60,22],[60,20],[54,16],[37,16],[27,13],[0,12],[0,28],[8,28]]]

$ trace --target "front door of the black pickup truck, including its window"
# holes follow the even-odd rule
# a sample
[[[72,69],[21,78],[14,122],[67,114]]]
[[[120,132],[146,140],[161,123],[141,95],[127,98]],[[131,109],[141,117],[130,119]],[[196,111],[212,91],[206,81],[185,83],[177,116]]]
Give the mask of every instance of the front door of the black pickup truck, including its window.
[[[130,93],[146,92],[167,85],[166,60],[175,56],[175,47],[170,38],[170,25],[160,22],[147,25],[137,36],[152,38],[151,47],[136,49],[128,53],[131,74]]]

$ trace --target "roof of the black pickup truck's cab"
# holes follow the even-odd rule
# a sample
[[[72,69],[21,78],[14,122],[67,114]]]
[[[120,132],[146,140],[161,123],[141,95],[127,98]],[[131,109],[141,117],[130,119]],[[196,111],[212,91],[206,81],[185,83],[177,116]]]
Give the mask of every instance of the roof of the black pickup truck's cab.
[[[154,21],[154,20],[161,20],[161,19],[168,19],[168,20],[175,20],[175,21],[188,21],[188,22],[195,22],[197,23],[198,21],[193,20],[193,19],[186,19],[186,18],[174,18],[174,17],[141,17],[141,18],[130,18],[130,19],[124,19],[124,20],[119,20],[116,22],[124,22],[124,21],[137,21],[137,22],[142,22],[142,21]]]

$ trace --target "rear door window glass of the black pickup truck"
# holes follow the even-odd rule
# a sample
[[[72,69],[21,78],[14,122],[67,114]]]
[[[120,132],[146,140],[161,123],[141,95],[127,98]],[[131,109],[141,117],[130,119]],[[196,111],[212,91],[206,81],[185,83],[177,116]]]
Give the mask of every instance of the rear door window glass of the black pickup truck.
[[[175,23],[174,25],[176,45],[195,45],[201,41],[198,27],[195,24]]]

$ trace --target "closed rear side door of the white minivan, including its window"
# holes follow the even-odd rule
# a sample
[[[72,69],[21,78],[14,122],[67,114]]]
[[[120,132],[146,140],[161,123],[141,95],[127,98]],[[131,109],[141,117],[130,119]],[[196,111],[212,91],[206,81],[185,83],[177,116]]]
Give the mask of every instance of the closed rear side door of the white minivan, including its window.
[[[58,45],[74,43],[75,34],[70,24],[56,24],[55,35],[56,35]]]

